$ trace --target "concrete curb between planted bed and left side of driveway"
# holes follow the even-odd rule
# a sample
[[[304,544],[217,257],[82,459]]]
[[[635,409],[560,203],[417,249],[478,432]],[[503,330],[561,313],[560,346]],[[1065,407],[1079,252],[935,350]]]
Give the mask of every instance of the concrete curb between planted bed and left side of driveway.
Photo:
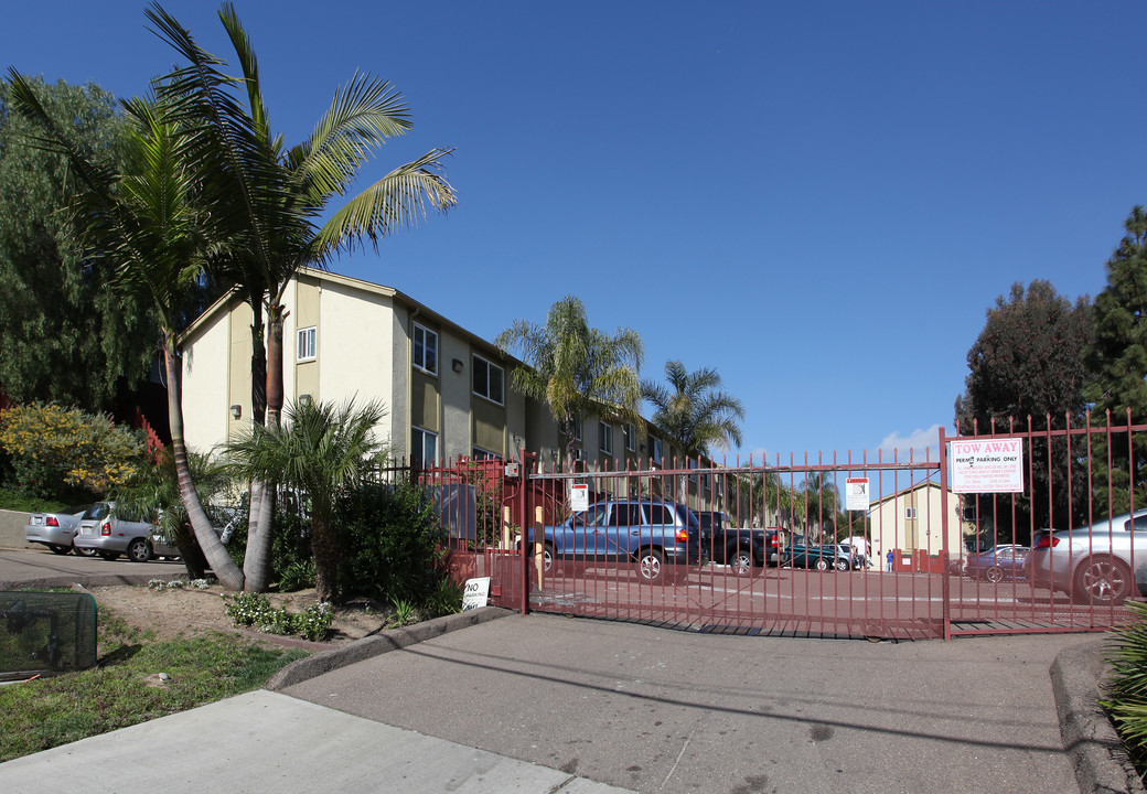
[[[390,629],[373,637],[364,637],[348,645],[341,645],[329,651],[313,654],[306,659],[301,659],[297,662],[291,662],[267,679],[263,688],[271,692],[281,692],[289,686],[302,684],[305,680],[346,667],[348,664],[353,664],[354,662],[361,662],[384,653],[390,653],[391,651],[398,651],[416,643],[440,637],[451,631],[458,631],[459,629],[516,614],[512,609],[482,607],[454,615],[436,617],[432,621],[415,623],[403,629]]]

